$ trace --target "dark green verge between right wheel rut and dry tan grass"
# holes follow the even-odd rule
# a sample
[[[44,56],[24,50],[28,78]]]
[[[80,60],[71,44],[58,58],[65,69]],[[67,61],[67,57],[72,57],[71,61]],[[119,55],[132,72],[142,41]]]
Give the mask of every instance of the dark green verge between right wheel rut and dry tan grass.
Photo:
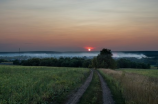
[[[113,95],[113,99],[115,101],[115,104],[125,104],[125,100],[124,100],[123,95],[122,95],[123,89],[120,87],[119,82],[116,81],[111,76],[103,73],[101,70],[99,70],[99,72],[103,76],[108,87],[110,88],[111,93]]]

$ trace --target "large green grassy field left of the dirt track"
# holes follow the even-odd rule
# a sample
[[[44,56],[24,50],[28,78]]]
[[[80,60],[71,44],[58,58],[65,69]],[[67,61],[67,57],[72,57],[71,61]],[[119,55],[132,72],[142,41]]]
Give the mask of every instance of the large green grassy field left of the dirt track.
[[[0,66],[0,104],[62,103],[89,69]]]

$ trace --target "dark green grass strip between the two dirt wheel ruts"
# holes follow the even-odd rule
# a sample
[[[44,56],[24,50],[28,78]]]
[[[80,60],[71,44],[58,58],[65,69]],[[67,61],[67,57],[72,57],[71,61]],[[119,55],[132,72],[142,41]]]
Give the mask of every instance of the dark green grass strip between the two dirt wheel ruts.
[[[102,104],[102,90],[101,83],[96,71],[94,71],[94,76],[92,82],[87,88],[86,92],[81,97],[78,104]]]

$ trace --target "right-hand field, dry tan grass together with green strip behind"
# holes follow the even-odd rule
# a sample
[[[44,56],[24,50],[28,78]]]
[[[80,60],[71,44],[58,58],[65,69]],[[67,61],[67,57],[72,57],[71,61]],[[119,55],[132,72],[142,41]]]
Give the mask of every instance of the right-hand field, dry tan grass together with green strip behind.
[[[158,70],[100,70],[114,90],[120,89],[126,104],[158,104]]]

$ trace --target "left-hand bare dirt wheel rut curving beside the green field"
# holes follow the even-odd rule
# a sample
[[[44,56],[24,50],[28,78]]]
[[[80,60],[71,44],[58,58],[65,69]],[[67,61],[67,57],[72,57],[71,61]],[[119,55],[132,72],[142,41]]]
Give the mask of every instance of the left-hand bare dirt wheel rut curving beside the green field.
[[[65,104],[77,104],[83,93],[86,91],[88,88],[90,82],[92,81],[93,78],[93,70],[91,70],[91,74],[89,77],[86,79],[85,83],[78,89],[78,91],[73,94],[69,100]]]

